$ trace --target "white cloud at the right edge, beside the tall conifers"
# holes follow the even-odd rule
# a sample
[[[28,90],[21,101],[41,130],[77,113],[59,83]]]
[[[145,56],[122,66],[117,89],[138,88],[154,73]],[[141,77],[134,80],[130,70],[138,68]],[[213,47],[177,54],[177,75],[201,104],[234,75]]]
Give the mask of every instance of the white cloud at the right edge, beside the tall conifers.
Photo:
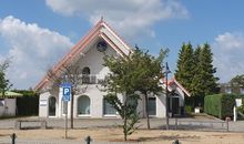
[[[213,53],[221,82],[228,82],[236,74],[244,74],[244,33],[225,32],[217,35]]]

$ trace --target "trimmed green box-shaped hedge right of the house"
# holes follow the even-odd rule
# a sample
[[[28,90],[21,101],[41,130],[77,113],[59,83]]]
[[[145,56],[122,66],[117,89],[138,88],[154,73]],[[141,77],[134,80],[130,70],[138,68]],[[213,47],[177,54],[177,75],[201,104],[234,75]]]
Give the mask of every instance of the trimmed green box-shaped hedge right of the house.
[[[235,94],[207,95],[204,97],[204,112],[218,119],[233,116],[235,97]]]

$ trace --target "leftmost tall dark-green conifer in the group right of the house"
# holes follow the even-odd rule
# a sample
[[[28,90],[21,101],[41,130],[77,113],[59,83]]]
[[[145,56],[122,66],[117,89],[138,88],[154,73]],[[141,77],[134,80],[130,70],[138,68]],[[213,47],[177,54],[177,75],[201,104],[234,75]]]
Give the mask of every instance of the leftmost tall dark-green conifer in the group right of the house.
[[[190,42],[187,44],[183,43],[179,53],[175,78],[186,90],[191,90],[193,75],[194,59],[192,44]]]

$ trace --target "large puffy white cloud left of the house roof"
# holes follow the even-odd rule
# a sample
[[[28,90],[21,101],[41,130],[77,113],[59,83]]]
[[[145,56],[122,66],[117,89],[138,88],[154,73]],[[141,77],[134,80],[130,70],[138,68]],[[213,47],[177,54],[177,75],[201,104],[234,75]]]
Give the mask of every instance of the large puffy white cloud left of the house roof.
[[[49,65],[72,48],[69,38],[58,32],[40,28],[35,23],[26,23],[12,16],[0,19],[0,39],[7,44],[7,54],[11,58],[8,76],[14,88],[34,86],[43,76]]]

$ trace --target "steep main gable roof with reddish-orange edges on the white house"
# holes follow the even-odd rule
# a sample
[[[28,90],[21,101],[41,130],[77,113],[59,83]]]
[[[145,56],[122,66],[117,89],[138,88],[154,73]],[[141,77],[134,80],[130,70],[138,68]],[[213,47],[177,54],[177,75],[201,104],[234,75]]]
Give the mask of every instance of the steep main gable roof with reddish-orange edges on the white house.
[[[90,31],[82,38],[71,51],[52,68],[53,73],[60,73],[62,65],[68,65],[79,56],[80,53],[85,49],[85,47],[95,38],[103,39],[112,49],[116,51],[121,56],[128,55],[132,49],[121,39],[119,34],[101,19]],[[48,75],[45,75],[34,88],[34,91],[39,91],[49,83]]]

